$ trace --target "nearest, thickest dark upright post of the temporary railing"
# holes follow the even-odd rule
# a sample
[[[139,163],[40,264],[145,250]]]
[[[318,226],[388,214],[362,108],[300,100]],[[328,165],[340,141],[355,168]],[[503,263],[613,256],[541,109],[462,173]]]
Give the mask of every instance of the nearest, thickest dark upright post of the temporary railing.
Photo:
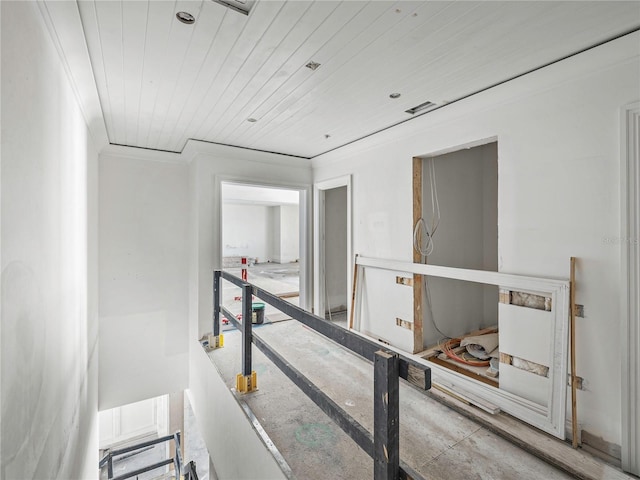
[[[379,350],[373,371],[374,480],[397,480],[400,473],[400,385],[397,353]]]

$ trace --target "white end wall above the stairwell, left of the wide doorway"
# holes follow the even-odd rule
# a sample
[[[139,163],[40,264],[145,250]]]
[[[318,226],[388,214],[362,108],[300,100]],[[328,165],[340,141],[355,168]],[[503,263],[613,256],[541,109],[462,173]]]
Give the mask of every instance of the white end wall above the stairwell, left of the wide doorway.
[[[188,385],[189,167],[162,160],[100,156],[100,410]]]

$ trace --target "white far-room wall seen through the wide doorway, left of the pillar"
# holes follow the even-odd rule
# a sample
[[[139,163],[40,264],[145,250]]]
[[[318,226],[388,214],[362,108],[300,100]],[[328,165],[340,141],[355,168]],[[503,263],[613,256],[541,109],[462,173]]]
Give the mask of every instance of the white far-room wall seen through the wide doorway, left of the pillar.
[[[222,204],[222,255],[247,256],[266,262],[273,225],[265,205]]]

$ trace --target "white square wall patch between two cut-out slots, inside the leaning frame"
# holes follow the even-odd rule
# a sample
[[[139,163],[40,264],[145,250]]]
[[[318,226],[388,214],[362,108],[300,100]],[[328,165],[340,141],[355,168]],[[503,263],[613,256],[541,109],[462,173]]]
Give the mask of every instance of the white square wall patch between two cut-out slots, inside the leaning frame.
[[[550,366],[553,315],[544,310],[501,303],[498,306],[500,352]]]

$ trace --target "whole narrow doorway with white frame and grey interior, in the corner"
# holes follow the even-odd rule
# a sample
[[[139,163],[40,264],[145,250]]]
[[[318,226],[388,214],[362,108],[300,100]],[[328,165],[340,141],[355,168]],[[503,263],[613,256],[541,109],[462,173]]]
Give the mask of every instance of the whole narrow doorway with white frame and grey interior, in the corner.
[[[351,305],[350,177],[315,185],[314,311],[347,327]]]

